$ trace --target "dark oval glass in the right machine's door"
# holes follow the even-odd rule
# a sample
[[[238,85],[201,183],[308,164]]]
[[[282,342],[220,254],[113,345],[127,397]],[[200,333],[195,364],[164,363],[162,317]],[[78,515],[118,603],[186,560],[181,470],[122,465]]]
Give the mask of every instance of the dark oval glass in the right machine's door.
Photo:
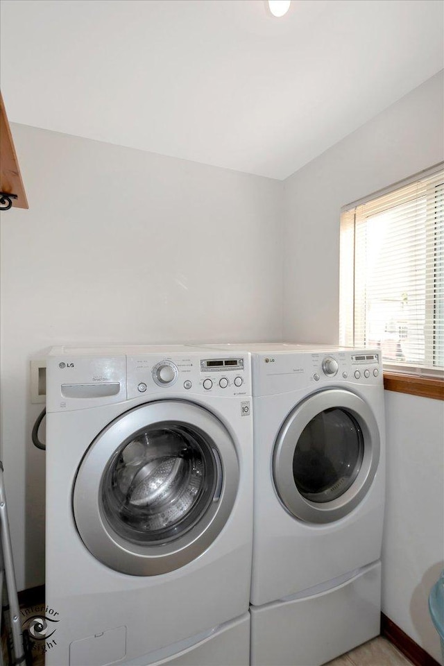
[[[336,407],[316,414],[300,434],[293,478],[311,502],[332,502],[353,484],[364,459],[364,436],[356,418]]]

